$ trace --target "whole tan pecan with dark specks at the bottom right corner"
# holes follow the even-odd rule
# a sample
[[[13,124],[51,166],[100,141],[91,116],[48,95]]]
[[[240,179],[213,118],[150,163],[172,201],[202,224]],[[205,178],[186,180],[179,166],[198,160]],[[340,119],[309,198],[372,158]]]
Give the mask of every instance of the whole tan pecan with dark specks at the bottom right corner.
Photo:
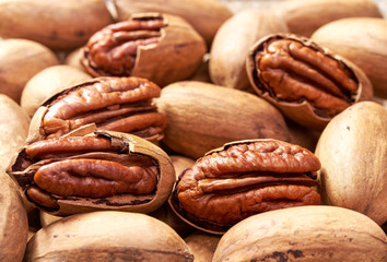
[[[386,261],[387,237],[370,217],[308,205],[250,216],[221,238],[220,261]]]

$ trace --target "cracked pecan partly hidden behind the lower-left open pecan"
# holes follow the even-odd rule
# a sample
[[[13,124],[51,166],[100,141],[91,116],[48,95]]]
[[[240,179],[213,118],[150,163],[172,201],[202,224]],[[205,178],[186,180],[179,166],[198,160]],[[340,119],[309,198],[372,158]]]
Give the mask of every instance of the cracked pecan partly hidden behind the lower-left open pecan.
[[[32,119],[28,143],[59,138],[90,123],[132,133],[152,142],[163,138],[167,119],[153,105],[161,88],[139,78],[99,78],[47,99]]]

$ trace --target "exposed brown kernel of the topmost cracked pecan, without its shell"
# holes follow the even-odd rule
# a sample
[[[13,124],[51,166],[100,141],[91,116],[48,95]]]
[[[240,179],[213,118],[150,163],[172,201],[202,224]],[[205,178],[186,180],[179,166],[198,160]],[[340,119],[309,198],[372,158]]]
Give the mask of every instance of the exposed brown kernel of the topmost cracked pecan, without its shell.
[[[160,43],[162,16],[137,17],[108,25],[95,33],[84,47],[82,64],[93,76],[129,76],[137,49]]]

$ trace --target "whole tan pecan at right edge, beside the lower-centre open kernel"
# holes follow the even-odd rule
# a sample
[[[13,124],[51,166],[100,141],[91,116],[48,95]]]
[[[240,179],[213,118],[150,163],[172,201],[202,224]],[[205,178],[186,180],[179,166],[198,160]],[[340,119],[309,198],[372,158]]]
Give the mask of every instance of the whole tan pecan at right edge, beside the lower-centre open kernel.
[[[321,162],[321,200],[387,222],[387,109],[355,104],[322,131],[316,147]]]

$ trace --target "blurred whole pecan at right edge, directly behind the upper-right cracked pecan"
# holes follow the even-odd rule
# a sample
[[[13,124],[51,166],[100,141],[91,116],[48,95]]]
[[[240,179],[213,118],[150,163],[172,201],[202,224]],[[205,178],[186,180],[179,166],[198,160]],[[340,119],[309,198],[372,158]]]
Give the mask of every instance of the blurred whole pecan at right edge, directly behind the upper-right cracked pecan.
[[[385,19],[351,17],[321,26],[310,38],[355,63],[371,80],[375,96],[387,98],[386,32]]]

